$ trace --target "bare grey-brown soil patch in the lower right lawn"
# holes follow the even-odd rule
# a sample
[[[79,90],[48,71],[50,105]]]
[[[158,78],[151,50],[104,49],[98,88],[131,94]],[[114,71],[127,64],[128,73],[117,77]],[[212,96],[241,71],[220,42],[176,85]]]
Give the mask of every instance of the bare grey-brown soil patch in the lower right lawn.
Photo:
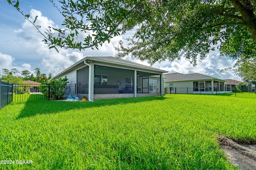
[[[239,166],[242,170],[256,170],[256,144],[232,141],[227,137],[219,137],[218,142],[222,150],[226,153],[228,160],[234,166]]]

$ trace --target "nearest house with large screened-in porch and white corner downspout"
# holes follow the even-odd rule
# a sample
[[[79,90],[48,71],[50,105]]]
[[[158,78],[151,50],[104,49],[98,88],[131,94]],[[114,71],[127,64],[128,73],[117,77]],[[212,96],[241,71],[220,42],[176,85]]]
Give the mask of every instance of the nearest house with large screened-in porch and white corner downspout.
[[[166,72],[116,57],[84,57],[52,79],[68,78],[76,84],[73,94],[93,101],[163,95]]]

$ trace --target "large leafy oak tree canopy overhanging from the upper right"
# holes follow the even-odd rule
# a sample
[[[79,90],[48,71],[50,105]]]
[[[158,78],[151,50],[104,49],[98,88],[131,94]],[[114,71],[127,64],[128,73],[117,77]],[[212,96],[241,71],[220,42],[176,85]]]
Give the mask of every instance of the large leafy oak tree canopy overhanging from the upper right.
[[[18,1],[7,1],[22,11]],[[56,6],[53,0],[50,2]],[[198,56],[204,59],[216,48],[231,59],[256,55],[255,0],[58,2],[61,7],[56,8],[64,16],[66,28],[48,28],[44,41],[50,48],[98,48],[98,45],[110,42],[112,37],[136,29],[127,39],[128,45],[120,42],[116,47],[119,56],[132,54],[150,64],[184,56],[196,64]],[[36,18],[23,15],[39,29]],[[87,35],[83,39],[79,36],[81,31]]]

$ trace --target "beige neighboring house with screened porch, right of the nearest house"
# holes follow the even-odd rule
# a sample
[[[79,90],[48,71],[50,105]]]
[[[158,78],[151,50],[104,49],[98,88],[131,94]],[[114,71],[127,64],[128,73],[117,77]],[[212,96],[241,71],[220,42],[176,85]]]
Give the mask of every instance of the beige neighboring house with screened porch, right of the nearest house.
[[[168,93],[216,94],[224,93],[226,80],[199,73],[168,73],[163,75],[164,87]],[[171,91],[170,91],[171,90]]]

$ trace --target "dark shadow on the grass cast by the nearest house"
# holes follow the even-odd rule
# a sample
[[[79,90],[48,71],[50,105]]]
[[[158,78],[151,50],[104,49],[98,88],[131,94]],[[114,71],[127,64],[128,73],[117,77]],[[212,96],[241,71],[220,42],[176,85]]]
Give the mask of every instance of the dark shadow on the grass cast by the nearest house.
[[[34,115],[52,114],[71,109],[82,109],[91,107],[112,106],[118,104],[148,102],[153,100],[164,100],[164,96],[140,97],[140,98],[118,98],[96,100],[94,102],[65,102],[65,101],[28,101],[16,119],[32,117]]]

